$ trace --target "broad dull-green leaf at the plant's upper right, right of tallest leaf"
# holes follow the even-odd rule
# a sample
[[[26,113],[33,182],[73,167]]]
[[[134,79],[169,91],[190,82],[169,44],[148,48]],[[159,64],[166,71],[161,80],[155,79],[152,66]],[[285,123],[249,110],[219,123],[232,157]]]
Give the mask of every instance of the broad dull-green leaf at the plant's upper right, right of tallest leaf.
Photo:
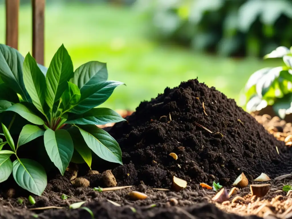
[[[70,81],[81,89],[84,85],[92,85],[106,81],[107,77],[107,64],[92,61],[78,67],[74,72],[74,77]]]

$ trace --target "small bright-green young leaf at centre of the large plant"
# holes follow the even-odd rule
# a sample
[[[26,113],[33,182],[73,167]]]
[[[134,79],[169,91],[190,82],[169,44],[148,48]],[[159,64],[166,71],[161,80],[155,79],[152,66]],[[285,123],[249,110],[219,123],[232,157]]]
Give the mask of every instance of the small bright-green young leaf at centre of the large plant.
[[[68,86],[62,94],[62,104],[64,106],[64,110],[76,105],[80,100],[80,96],[81,94],[77,85],[68,82]]]

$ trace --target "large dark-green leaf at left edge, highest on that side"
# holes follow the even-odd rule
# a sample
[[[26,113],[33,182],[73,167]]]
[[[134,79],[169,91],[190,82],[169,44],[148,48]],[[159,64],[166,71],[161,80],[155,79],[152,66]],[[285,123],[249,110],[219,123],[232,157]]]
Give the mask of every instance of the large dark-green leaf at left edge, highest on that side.
[[[0,44],[0,77],[2,81],[26,101],[30,97],[25,89],[22,74],[24,58],[14,48]]]

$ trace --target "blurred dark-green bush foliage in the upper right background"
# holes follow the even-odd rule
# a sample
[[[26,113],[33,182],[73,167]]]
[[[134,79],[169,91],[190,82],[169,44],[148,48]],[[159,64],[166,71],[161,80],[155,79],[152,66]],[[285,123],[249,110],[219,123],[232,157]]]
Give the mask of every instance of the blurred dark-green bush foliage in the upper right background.
[[[292,41],[290,0],[138,0],[155,37],[225,56],[263,56]]]

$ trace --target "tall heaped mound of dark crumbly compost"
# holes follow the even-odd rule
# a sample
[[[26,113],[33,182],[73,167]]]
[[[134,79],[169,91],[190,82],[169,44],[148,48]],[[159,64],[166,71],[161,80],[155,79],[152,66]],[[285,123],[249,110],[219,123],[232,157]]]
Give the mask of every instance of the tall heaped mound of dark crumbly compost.
[[[291,169],[284,142],[197,79],[141,102],[127,120],[110,131],[123,152],[124,166],[113,170],[119,185],[167,187],[175,175],[192,188],[214,180],[228,186],[242,172],[252,180]]]

